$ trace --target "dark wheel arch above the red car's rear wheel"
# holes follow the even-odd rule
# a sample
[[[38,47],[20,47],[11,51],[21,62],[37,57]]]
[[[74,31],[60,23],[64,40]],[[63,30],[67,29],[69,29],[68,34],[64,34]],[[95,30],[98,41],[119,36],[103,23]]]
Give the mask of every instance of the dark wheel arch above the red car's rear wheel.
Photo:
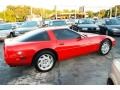
[[[51,48],[45,48],[45,49],[41,49],[41,50],[37,51],[37,52],[34,54],[34,56],[32,57],[31,65],[34,64],[34,61],[35,61],[34,58],[38,55],[38,53],[43,52],[43,51],[50,51],[50,52],[52,52],[53,54],[55,54],[56,60],[58,60],[58,53],[57,53],[55,50],[53,50],[53,49],[51,49]]]

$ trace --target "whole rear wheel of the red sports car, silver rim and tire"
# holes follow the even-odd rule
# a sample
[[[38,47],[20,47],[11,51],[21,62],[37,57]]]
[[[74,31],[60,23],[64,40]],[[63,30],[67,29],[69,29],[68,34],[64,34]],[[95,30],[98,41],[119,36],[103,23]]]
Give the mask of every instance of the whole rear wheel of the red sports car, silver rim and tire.
[[[55,55],[50,51],[42,51],[35,57],[34,66],[40,72],[47,72],[51,70],[56,62]]]

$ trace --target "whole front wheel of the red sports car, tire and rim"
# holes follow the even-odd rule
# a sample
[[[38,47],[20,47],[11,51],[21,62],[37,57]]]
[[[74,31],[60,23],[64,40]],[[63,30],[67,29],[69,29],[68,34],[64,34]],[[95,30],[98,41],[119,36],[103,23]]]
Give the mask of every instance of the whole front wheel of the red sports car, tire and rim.
[[[111,50],[111,42],[108,39],[105,39],[101,42],[99,53],[101,55],[106,55]]]

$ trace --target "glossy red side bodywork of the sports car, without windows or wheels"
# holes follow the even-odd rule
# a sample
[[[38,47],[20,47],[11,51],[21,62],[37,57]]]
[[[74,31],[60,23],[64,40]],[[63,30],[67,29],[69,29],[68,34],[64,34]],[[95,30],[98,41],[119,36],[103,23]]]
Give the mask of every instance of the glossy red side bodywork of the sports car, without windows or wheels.
[[[115,45],[115,39],[96,34],[86,34],[81,39],[57,40],[53,31],[48,30],[49,41],[16,42],[5,40],[4,57],[10,66],[31,65],[34,55],[43,49],[52,49],[58,55],[58,61],[85,55],[99,50],[102,40],[108,38]]]

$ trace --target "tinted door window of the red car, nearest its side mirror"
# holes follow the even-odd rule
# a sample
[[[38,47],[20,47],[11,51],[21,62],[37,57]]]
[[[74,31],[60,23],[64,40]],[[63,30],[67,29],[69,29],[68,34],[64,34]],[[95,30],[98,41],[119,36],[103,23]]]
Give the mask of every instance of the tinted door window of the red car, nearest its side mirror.
[[[53,30],[53,32],[58,40],[75,39],[80,37],[78,33],[69,29]]]

